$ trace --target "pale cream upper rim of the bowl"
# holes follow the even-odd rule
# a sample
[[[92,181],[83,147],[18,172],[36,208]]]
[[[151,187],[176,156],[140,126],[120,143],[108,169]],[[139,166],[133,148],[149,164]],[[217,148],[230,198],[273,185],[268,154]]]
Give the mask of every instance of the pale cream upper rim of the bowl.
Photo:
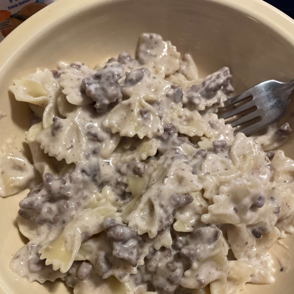
[[[87,11],[91,6],[123,1],[127,0],[58,0],[40,10],[18,26],[0,43],[0,77],[4,74],[6,66],[16,59],[21,52],[29,48],[29,45],[38,36],[74,15]],[[248,18],[270,27],[294,47],[294,20],[269,3],[263,0],[205,1],[228,6],[244,13]]]

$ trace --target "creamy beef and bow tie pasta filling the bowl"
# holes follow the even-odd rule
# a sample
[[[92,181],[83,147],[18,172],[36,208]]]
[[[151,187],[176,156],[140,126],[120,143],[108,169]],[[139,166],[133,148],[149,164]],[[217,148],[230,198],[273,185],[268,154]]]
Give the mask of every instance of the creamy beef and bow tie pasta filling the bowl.
[[[97,69],[60,62],[10,87],[28,103],[33,164],[2,148],[0,195],[30,187],[11,262],[28,281],[75,294],[237,294],[271,283],[268,250],[293,231],[291,128],[235,137],[216,114],[226,67],[201,79],[191,57],[140,36]],[[111,292],[110,292],[111,293]]]

